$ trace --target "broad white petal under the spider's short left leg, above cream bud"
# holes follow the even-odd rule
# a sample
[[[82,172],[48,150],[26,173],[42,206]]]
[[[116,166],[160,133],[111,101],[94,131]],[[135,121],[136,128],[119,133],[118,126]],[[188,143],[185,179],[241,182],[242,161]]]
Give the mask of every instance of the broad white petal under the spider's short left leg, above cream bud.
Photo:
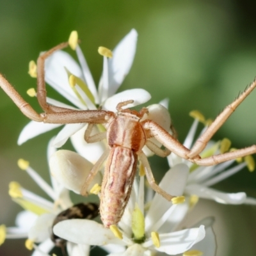
[[[95,143],[87,143],[84,140],[84,132],[86,128],[87,125],[85,125],[83,129],[77,131],[74,135],[72,135],[70,139],[72,145],[76,149],[76,152],[94,164],[105,152],[106,146],[102,141]],[[93,127],[92,135],[98,132],[99,130],[97,129],[97,127]]]

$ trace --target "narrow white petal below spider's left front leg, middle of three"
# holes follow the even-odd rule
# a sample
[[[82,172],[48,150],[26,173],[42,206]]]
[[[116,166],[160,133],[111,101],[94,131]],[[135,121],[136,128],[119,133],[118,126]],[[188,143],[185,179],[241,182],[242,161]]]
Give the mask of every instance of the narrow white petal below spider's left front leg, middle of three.
[[[54,141],[52,142],[52,146],[56,148],[60,148],[66,143],[66,141],[70,136],[72,136],[77,131],[82,129],[84,125],[85,124],[66,124],[58,133]]]

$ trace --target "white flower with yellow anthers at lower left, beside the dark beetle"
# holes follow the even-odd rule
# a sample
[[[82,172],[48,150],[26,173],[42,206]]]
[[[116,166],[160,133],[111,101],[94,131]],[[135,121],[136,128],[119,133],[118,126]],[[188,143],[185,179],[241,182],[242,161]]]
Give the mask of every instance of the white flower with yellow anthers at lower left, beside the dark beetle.
[[[51,143],[51,142],[50,142]],[[49,143],[49,144],[50,144]],[[55,149],[49,146],[48,158],[54,153]],[[33,256],[48,255],[54,243],[51,241],[52,223],[56,216],[71,207],[68,189],[64,188],[54,178],[51,177],[51,186],[45,182],[38,173],[29,166],[28,161],[19,159],[19,167],[31,176],[42,190],[52,199],[47,200],[35,193],[22,188],[17,182],[10,183],[10,196],[13,201],[20,204],[26,211],[17,215],[16,227],[4,228],[0,226],[0,242],[5,238],[27,238],[26,247],[33,248]],[[86,175],[86,174],[85,174]],[[38,244],[38,245],[36,245]],[[90,246],[67,243],[69,256],[89,255]],[[80,254],[78,253],[80,252]]]

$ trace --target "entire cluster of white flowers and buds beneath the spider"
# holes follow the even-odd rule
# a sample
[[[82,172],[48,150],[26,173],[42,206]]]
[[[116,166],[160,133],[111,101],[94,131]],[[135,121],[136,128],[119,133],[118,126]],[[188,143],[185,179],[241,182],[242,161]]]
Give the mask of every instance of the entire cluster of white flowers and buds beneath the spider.
[[[49,97],[47,97],[47,102],[76,111],[103,109],[114,113],[120,102],[133,100],[122,106],[122,109],[147,102],[151,96],[143,89],[137,88],[116,93],[129,73],[134,60],[137,36],[135,29],[132,29],[113,51],[99,47],[99,53],[104,60],[102,76],[99,86],[96,87],[83,52],[77,44],[77,33],[73,31],[68,42],[70,47],[76,51],[78,63],[65,51],[54,52],[45,62],[45,81],[65,97],[72,106]],[[29,63],[29,74],[36,77],[36,65],[33,61]],[[29,90],[28,93],[36,96],[35,90]],[[168,100],[148,106],[147,111],[144,111],[141,116],[141,122],[153,120],[164,130],[173,134],[167,109]],[[195,140],[198,123],[207,123],[204,116],[197,111],[191,112],[191,116],[195,118],[195,121],[184,141],[186,148],[191,148]],[[20,133],[18,143],[20,145],[60,125],[31,121]],[[84,132],[88,130],[91,132],[91,138],[97,138],[94,143],[86,143],[83,139]],[[56,223],[56,216],[60,212],[71,209],[70,207],[74,205],[70,200],[69,191],[80,194],[84,183],[90,175],[92,176],[91,171],[96,168],[99,172],[93,173],[92,182],[86,192],[99,195],[99,198],[101,196],[100,184],[102,184],[104,173],[102,166],[108,154],[108,145],[103,140],[105,137],[100,137],[99,132],[106,134],[106,127],[101,124],[91,127],[85,123],[64,125],[57,136],[50,141],[47,150],[51,186],[29,166],[27,161],[22,159],[18,161],[19,167],[26,170],[38,186],[52,198],[52,202],[22,188],[17,182],[11,182],[10,196],[14,202],[24,208],[24,211],[17,215],[16,227],[0,226],[0,243],[3,243],[6,238],[26,238],[26,247],[29,250],[35,249],[34,256],[50,255],[52,248],[56,245],[56,241],[52,239],[52,232],[54,232],[54,236],[67,241],[67,253],[70,256],[90,255],[90,246],[100,246],[111,256],[146,256],[163,255],[163,253],[166,255],[214,256],[216,255],[216,238],[212,230],[214,222],[212,217],[205,218],[193,227],[182,227],[182,221],[195,206],[198,198],[212,199],[221,204],[256,204],[254,198],[248,198],[243,192],[223,193],[210,188],[217,182],[239,172],[244,166],[248,166],[252,171],[254,169],[252,157],[237,159],[240,161],[238,164],[234,164],[235,161],[232,160],[205,167],[197,166],[172,153],[168,156],[170,170],[165,173],[159,186],[154,183],[154,178],[151,179],[155,191],[160,189],[169,195],[175,195],[170,202],[159,193],[154,193],[152,184],[150,188],[145,182],[145,173],[147,179],[150,175],[148,175],[148,170],[145,170],[148,167],[139,158],[139,175],[136,175],[129,188],[131,195],[126,199],[124,214],[116,225],[106,228],[99,220],[72,218],[72,216]],[[76,152],[56,150],[62,147],[68,138],[71,139]],[[217,143],[210,141],[202,152],[202,157],[227,152],[229,144],[227,139]],[[154,138],[150,138],[147,146],[142,149],[147,157],[154,154],[150,150],[152,147],[158,148],[156,152],[159,155],[167,156],[169,153],[167,150],[162,150],[161,143]],[[137,163],[135,168],[137,168]],[[64,248],[63,252],[65,250]]]

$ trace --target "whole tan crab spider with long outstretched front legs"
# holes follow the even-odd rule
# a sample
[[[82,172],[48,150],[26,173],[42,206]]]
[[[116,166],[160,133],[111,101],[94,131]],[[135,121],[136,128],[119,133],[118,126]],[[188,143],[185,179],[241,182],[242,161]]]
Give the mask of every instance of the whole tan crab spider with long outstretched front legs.
[[[212,124],[209,125],[205,132],[196,140],[191,150],[189,150],[174,136],[169,134],[168,131],[165,131],[163,127],[156,124],[156,122],[152,120],[142,121],[141,118],[147,113],[147,108],[142,108],[140,111],[124,109],[124,106],[133,102],[132,99],[120,102],[116,106],[116,113],[102,109],[78,111],[47,104],[44,79],[45,59],[53,52],[67,46],[68,42],[62,43],[38,57],[36,95],[38,103],[44,113],[38,114],[28,102],[22,99],[19,93],[1,74],[0,86],[18,106],[20,111],[31,120],[47,124],[88,123],[84,134],[84,139],[88,143],[104,140],[105,138],[107,139],[109,148],[102,154],[97,163],[95,163],[81,189],[81,195],[86,195],[86,190],[90,182],[99,171],[100,166],[107,159],[100,193],[100,216],[105,227],[110,227],[118,223],[124,213],[131,193],[132,182],[136,174],[138,157],[145,167],[145,175],[150,187],[167,200],[172,200],[173,197],[175,197],[166,193],[166,191],[159,188],[156,184],[147,157],[142,150],[145,145],[158,156],[165,157],[168,156],[170,152],[173,152],[177,154],[177,156],[203,166],[237,159],[238,157],[244,157],[256,152],[256,145],[252,145],[233,152],[226,152],[203,159],[199,156],[215,132],[218,131],[237,106],[252,92],[256,86],[256,80],[216,117]],[[92,128],[95,124],[104,125],[106,132],[91,136]],[[149,140],[150,138],[156,138],[166,149],[158,147]]]

